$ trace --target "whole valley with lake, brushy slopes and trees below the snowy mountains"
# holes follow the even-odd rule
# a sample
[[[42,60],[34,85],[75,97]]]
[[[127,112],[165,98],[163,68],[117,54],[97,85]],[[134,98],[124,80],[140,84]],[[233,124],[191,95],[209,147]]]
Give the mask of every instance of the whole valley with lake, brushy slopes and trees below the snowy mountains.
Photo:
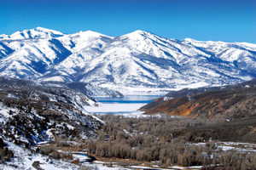
[[[0,169],[256,166],[254,80],[166,96],[95,99],[86,88],[55,84],[0,78]],[[180,114],[195,104],[190,114]]]

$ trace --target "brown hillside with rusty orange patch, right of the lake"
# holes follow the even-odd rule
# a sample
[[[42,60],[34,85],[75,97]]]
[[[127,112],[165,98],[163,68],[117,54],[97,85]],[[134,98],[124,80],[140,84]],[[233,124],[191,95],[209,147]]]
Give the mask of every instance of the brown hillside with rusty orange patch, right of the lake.
[[[143,106],[146,114],[166,113],[219,121],[256,116],[256,81],[223,88],[183,89]]]

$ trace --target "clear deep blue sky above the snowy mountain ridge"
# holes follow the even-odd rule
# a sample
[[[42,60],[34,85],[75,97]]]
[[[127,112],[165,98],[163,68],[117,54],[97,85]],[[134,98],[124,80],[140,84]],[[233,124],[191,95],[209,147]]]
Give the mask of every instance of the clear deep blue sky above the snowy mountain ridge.
[[[256,43],[256,0],[2,0],[0,34],[41,26]]]

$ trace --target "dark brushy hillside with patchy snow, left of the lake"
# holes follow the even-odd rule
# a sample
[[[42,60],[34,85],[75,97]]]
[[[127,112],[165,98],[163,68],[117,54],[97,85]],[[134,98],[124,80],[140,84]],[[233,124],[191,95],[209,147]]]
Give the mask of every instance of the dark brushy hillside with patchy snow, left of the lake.
[[[104,122],[85,111],[96,105],[85,88],[54,85],[0,77],[0,169],[80,169],[47,145],[94,139]]]

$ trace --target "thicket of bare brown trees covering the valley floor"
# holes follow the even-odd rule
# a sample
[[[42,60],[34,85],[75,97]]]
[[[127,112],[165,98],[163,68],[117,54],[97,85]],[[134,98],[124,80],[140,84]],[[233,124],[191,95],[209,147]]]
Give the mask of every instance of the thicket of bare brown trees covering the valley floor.
[[[218,152],[214,142],[207,142],[205,146],[188,144],[188,141],[202,142],[210,139],[211,135],[218,135],[211,130],[205,132],[187,129],[207,123],[201,120],[168,117],[137,119],[122,116],[101,118],[108,123],[102,127],[100,137],[87,144],[88,152],[96,156],[159,161],[166,167],[201,165],[205,166],[205,169],[225,170],[253,170],[256,167],[256,154]],[[207,167],[212,164],[222,167]]]

